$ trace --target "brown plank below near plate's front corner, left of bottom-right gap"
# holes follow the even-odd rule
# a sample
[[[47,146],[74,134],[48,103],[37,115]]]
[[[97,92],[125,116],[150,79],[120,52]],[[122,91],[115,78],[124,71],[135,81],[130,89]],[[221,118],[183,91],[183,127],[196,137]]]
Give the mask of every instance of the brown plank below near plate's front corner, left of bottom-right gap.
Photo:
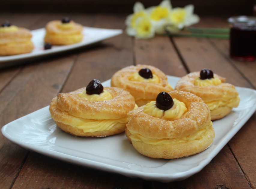
[[[171,169],[171,167],[170,167]],[[236,159],[227,146],[212,159],[199,173],[183,181],[160,183],[154,182],[153,188],[232,188],[250,189]]]

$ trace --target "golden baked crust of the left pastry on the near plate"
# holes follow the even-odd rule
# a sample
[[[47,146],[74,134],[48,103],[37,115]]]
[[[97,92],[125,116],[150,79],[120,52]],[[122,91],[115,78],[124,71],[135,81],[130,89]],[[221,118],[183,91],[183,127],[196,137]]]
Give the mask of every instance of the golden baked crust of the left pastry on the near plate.
[[[125,90],[116,87],[104,87],[113,98],[110,100],[89,101],[80,96],[79,93],[86,87],[70,93],[59,93],[50,103],[50,114],[56,125],[62,130],[76,136],[103,137],[119,134],[125,131],[128,122],[127,113],[134,109],[134,97]],[[121,120],[113,126],[104,130],[86,131],[78,126],[86,127],[87,122]],[[103,121],[103,122],[101,122]],[[78,125],[78,126],[77,126]]]

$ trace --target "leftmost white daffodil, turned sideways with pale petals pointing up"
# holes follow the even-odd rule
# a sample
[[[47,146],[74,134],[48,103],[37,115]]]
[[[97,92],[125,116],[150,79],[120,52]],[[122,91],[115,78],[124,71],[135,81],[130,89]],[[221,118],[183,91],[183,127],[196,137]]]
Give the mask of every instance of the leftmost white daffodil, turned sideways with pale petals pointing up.
[[[135,28],[137,19],[143,16],[146,16],[147,13],[145,11],[144,5],[141,2],[136,2],[133,6],[133,14],[127,16],[125,20],[125,24],[127,26],[126,33],[129,36],[135,36]]]

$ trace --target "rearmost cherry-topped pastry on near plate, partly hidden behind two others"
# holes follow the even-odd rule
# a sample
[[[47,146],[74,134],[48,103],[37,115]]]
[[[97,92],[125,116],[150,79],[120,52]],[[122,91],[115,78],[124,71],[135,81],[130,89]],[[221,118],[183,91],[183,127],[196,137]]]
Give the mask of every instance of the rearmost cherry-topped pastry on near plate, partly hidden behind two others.
[[[111,78],[111,86],[127,90],[138,106],[155,100],[161,91],[172,91],[166,75],[154,66],[128,66],[117,71]]]

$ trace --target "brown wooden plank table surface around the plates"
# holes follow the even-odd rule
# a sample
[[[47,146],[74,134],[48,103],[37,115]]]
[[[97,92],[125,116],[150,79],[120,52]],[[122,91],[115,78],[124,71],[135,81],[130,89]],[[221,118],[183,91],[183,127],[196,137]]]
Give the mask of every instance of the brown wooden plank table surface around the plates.
[[[125,29],[127,15],[1,13],[0,19],[34,30],[64,16],[84,26]],[[201,17],[197,26],[228,27],[227,18]],[[209,68],[231,84],[255,89],[256,62],[232,60],[228,49],[228,40],[167,36],[135,40],[124,32],[95,46],[1,68],[0,125],[49,105],[60,92],[85,87],[92,78],[105,81],[117,70],[136,64],[153,65],[178,77]],[[170,183],[128,178],[56,160],[11,143],[1,133],[0,188],[256,188],[255,125],[254,113],[203,170]]]

